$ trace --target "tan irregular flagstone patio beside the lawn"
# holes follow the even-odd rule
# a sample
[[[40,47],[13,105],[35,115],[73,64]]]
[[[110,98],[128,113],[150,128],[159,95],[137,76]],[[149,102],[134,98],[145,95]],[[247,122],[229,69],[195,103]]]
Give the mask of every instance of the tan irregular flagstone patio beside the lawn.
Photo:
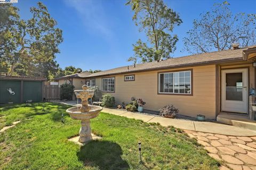
[[[256,136],[228,136],[184,130],[224,163],[220,169],[256,169]]]

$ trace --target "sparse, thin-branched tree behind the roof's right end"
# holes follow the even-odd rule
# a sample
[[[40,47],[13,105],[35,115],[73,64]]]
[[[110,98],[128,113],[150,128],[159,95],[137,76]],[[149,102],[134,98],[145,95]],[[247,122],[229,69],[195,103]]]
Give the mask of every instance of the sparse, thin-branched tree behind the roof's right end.
[[[231,48],[232,43],[241,46],[256,43],[256,14],[233,15],[227,1],[214,4],[213,9],[194,20],[193,29],[183,38],[185,50],[192,53],[207,53]]]

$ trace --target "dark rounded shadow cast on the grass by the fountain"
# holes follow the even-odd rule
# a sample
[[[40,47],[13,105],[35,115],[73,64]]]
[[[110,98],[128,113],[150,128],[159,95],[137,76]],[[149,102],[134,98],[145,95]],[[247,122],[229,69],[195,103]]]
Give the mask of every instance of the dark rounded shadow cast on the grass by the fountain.
[[[98,166],[100,169],[129,169],[128,163],[122,159],[122,149],[114,142],[91,141],[77,152],[84,166]]]

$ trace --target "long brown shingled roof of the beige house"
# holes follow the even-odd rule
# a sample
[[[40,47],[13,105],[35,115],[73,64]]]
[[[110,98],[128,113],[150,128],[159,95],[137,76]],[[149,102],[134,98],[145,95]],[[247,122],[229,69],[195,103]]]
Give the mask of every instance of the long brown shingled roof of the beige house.
[[[97,76],[107,76],[114,74],[129,74],[132,72],[139,71],[148,71],[148,70],[157,70],[157,69],[168,69],[168,68],[177,68],[177,67],[189,67],[194,65],[205,65],[211,63],[221,63],[225,61],[238,61],[243,60],[243,51],[249,50],[251,48],[256,48],[256,46],[243,47],[237,50],[223,50],[217,52],[195,54],[188,56],[181,56],[177,58],[167,59],[163,61],[154,61],[147,62],[142,64],[136,64],[135,67],[124,66],[118,67],[110,70],[95,72],[88,75],[87,77],[97,77]],[[129,69],[128,69],[129,68]]]

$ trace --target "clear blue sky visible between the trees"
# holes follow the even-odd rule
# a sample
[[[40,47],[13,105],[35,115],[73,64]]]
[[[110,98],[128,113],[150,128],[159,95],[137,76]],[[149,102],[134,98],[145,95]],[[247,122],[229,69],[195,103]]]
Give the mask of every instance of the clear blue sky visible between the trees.
[[[63,43],[57,61],[61,68],[75,66],[83,70],[111,69],[132,64],[127,58],[133,55],[132,44],[139,38],[146,41],[143,32],[132,21],[133,12],[126,1],[114,0],[47,0],[42,1],[51,16],[57,20],[63,30]],[[214,3],[223,1],[164,1],[178,12],[183,23],[174,28],[179,42],[173,57],[188,55],[182,51],[182,38],[192,28],[194,19],[200,13],[211,9]],[[256,1],[228,1],[233,13],[256,13]],[[36,6],[34,0],[18,0],[21,18],[29,18],[30,6]]]

